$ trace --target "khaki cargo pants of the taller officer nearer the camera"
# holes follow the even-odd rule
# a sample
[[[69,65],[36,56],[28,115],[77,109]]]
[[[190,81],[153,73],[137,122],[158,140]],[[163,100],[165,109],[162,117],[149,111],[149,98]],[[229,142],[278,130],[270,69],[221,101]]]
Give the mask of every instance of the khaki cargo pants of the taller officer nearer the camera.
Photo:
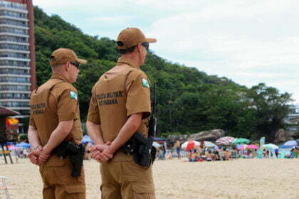
[[[127,156],[124,154],[124,156]],[[152,166],[146,168],[132,160],[117,156],[100,164],[103,199],[154,199]]]

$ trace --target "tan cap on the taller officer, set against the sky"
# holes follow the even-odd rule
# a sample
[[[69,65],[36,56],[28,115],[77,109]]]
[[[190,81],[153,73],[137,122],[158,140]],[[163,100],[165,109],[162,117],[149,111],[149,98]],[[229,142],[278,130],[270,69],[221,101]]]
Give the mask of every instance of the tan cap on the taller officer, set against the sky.
[[[148,42],[154,43],[157,40],[155,38],[146,38],[145,35],[138,28],[125,28],[120,32],[117,37],[117,48],[127,49],[138,43]]]

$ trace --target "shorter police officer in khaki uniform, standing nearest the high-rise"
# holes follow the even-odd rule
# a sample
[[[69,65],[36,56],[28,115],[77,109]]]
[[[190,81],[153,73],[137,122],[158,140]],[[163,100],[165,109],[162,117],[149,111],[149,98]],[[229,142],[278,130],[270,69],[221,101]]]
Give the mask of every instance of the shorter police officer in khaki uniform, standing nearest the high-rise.
[[[72,177],[69,156],[65,159],[51,154],[62,141],[80,144],[83,138],[78,92],[73,87],[80,63],[73,50],[59,48],[51,55],[53,74],[50,80],[31,95],[28,139],[33,151],[31,162],[40,166],[44,199],[85,198],[84,169],[80,177]]]

